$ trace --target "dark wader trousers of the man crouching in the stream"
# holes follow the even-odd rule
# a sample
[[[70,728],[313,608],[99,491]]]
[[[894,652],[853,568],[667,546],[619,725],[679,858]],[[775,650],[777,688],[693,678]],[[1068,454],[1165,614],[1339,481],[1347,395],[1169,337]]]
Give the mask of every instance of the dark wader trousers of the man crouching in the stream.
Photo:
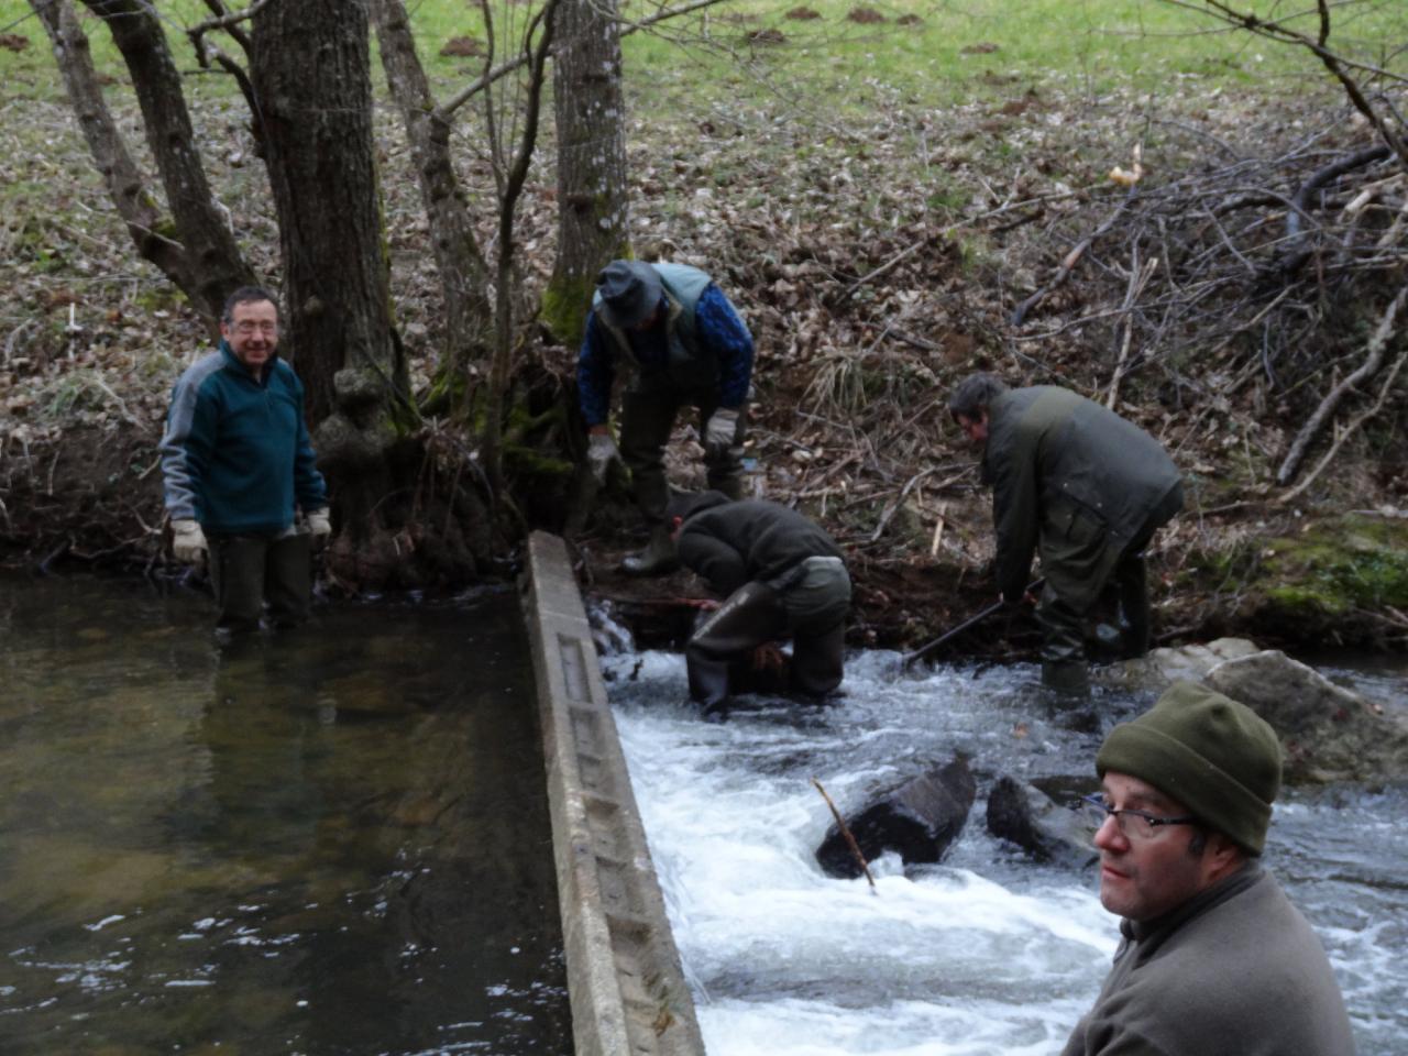
[[[841,558],[807,558],[772,584],[750,582],[710,612],[684,648],[690,698],[724,708],[729,662],[765,642],[793,639],[791,689],[822,697],[841,684],[850,577]]]

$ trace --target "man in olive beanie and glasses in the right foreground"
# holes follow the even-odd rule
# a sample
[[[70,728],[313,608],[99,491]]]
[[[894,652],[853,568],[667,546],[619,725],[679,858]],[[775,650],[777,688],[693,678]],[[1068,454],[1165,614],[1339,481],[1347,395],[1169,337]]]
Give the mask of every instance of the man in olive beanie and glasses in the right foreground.
[[[1352,1056],[1329,959],[1260,866],[1281,748],[1250,708],[1174,683],[1095,756],[1115,963],[1063,1056]]]

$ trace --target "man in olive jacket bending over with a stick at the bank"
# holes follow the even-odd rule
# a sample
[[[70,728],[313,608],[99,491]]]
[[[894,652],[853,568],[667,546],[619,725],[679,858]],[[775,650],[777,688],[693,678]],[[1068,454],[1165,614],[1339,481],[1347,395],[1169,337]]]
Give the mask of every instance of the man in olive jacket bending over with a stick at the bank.
[[[1111,580],[1125,655],[1149,650],[1143,551],[1183,508],[1178,470],[1138,425],[1057,386],[1008,389],[994,375],[973,375],[955,389],[949,413],[983,449],[997,583],[1008,603],[1022,600],[1032,552],[1041,553],[1042,681],[1084,694],[1086,615]]]

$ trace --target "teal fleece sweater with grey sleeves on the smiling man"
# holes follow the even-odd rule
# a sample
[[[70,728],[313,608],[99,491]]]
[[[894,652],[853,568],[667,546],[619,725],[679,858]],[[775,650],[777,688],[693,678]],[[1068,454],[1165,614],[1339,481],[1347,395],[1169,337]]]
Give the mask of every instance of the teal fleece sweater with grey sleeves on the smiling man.
[[[161,445],[166,510],[218,535],[277,534],[328,504],[303,383],[273,356],[256,379],[224,341],[176,382]]]

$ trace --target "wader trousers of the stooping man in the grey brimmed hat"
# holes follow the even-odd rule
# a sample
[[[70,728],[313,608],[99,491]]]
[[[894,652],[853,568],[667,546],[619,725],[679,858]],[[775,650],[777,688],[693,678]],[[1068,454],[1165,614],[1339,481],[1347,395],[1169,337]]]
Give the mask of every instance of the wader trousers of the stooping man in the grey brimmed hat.
[[[679,390],[663,384],[628,389],[621,394],[621,460],[631,470],[631,494],[653,528],[665,522],[670,486],[665,476],[665,445],[670,442],[674,420],[684,407],[698,407],[700,442],[710,415],[718,410],[718,394]],[[721,452],[704,449],[708,486],[729,498],[743,497],[743,439],[748,435],[748,408],[738,415],[734,442]]]

